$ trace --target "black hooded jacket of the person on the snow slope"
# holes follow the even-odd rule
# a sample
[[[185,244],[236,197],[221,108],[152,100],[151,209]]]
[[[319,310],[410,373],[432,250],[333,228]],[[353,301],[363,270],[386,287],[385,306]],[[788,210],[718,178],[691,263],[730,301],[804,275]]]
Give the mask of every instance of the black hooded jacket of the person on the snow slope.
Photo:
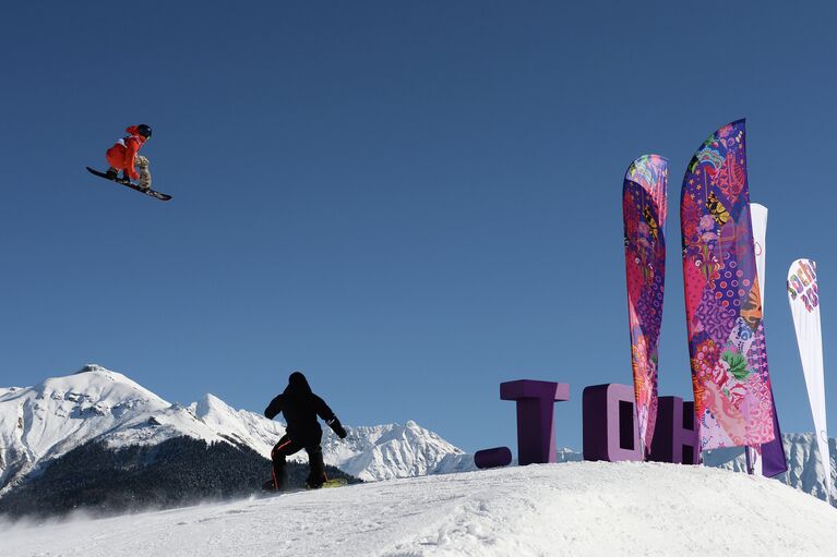
[[[288,436],[299,441],[320,443],[323,429],[316,416],[332,427],[334,427],[333,424],[339,425],[328,404],[311,391],[308,379],[299,372],[290,374],[285,391],[267,404],[264,415],[273,420],[279,412],[285,415],[288,424]]]

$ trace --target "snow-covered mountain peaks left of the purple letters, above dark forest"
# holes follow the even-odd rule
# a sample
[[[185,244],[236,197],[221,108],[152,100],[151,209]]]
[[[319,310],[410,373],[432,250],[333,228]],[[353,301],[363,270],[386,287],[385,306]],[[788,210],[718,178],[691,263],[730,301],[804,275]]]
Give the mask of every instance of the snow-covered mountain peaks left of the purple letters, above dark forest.
[[[473,469],[473,459],[415,422],[346,427],[339,440],[325,428],[323,455],[361,480],[384,480]],[[206,395],[170,403],[129,377],[98,365],[33,387],[0,388],[0,496],[27,474],[89,441],[119,449],[175,437],[252,448],[265,458],[284,424],[230,408]],[[307,458],[301,451],[297,458]]]

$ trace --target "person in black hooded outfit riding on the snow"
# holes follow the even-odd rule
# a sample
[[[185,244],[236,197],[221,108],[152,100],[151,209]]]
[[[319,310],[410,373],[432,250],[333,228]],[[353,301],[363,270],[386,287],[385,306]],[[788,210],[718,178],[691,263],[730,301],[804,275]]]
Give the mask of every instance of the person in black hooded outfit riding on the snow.
[[[311,391],[308,379],[300,372],[294,372],[288,377],[288,386],[282,395],[274,398],[264,410],[264,415],[273,420],[279,412],[285,414],[285,421],[288,424],[286,434],[279,439],[279,443],[273,447],[271,459],[273,460],[273,483],[267,482],[265,487],[272,487],[276,491],[285,487],[286,470],[285,457],[306,449],[310,473],[306,484],[309,487],[322,487],[325,483],[325,464],[323,463],[323,449],[320,441],[323,437],[323,429],[319,415],[337,434],[340,439],[346,438],[346,429],[334,415],[332,409],[323,399]]]

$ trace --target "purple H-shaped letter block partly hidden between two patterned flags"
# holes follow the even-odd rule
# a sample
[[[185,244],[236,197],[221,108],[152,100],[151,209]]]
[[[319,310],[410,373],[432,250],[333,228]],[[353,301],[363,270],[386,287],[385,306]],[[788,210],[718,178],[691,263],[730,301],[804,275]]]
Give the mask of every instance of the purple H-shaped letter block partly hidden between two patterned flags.
[[[680,397],[660,397],[657,428],[648,460],[674,464],[697,464],[701,456],[697,428],[694,426],[694,402]]]

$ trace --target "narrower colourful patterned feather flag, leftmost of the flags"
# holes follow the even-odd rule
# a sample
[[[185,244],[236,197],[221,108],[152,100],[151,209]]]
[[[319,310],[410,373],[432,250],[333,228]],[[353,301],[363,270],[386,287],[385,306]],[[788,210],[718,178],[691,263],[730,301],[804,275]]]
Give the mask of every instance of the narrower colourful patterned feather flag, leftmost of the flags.
[[[650,451],[657,419],[657,346],[666,282],[668,161],[644,155],[627,168],[622,187],[627,314],[639,441]]]

